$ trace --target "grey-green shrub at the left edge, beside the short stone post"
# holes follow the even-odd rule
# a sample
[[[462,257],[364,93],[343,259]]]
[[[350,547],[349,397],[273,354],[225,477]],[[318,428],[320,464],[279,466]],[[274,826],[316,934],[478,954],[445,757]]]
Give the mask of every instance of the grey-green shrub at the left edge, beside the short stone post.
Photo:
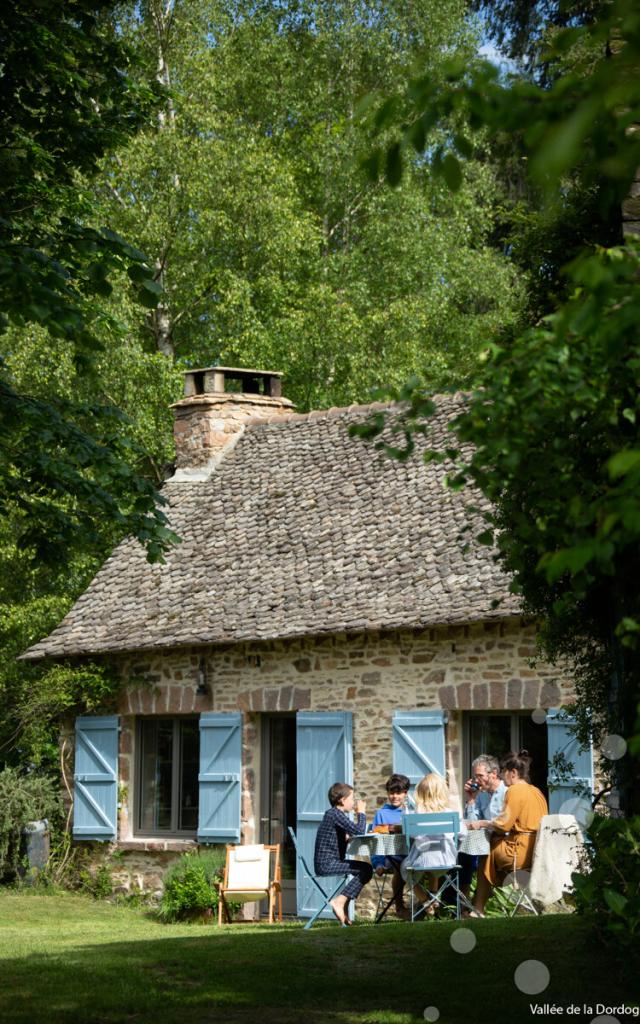
[[[59,814],[59,794],[52,779],[16,768],[0,772],[0,879],[17,873],[25,825]]]

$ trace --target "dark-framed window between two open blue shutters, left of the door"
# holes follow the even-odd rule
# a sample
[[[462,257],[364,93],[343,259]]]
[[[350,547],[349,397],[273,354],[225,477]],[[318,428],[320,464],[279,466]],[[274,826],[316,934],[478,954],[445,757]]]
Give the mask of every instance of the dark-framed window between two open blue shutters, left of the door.
[[[137,751],[136,834],[195,836],[200,757],[198,719],[139,719]]]

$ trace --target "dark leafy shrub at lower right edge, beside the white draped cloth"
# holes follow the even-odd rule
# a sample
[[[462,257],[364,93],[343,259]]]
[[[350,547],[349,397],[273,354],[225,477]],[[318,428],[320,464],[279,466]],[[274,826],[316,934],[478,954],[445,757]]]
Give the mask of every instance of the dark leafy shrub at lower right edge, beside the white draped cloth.
[[[604,940],[631,957],[640,937],[640,817],[596,816],[587,873],[573,874],[575,905]]]

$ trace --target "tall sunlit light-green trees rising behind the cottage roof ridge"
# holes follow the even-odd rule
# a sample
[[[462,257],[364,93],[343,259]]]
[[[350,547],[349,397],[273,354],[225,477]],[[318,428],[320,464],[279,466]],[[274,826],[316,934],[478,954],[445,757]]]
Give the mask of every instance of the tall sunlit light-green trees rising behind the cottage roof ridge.
[[[444,46],[470,57],[463,14],[459,0],[135,8],[128,32],[172,105],[105,162],[99,195],[165,288],[156,313],[130,312],[144,344],[274,366],[302,409],[423,367],[470,379],[481,336],[512,332],[522,305],[487,243],[489,162],[456,197],[418,162],[392,196],[357,166],[357,97],[395,88],[419,52],[436,75]]]

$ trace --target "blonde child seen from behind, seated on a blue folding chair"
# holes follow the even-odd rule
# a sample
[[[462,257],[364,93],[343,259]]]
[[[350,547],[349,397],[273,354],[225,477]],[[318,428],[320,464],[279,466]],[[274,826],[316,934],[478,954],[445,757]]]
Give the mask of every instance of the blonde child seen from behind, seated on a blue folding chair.
[[[437,772],[430,772],[418,782],[414,799],[419,814],[437,814],[438,811],[454,810],[446,782]],[[462,822],[461,827],[464,827]],[[435,916],[435,904],[429,900],[438,891],[443,874],[443,871],[437,871],[436,868],[450,867],[456,863],[457,858],[458,850],[453,833],[443,833],[441,836],[416,836],[408,856],[400,865],[400,872],[404,879],[408,868],[412,868],[412,878],[418,871],[424,870],[421,881],[426,883],[427,890],[425,891],[422,885],[415,884],[414,892],[418,899],[426,904],[425,912],[430,918]]]

